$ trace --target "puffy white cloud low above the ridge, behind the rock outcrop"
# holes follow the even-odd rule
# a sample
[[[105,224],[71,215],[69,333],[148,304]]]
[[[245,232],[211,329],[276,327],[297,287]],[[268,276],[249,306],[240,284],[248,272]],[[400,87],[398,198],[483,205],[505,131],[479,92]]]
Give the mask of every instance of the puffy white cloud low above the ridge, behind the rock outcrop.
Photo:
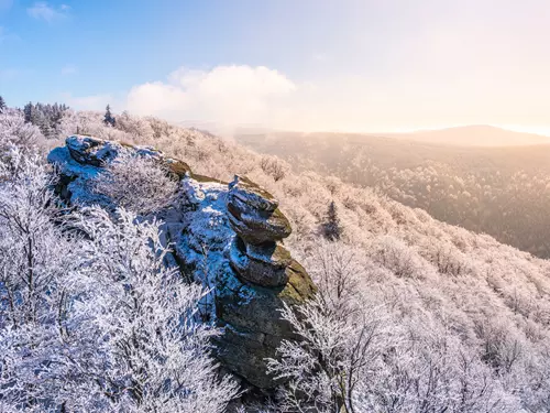
[[[127,107],[174,121],[263,122],[274,105],[295,90],[292,80],[264,66],[218,66],[208,72],[182,67],[167,81],[133,87]]]

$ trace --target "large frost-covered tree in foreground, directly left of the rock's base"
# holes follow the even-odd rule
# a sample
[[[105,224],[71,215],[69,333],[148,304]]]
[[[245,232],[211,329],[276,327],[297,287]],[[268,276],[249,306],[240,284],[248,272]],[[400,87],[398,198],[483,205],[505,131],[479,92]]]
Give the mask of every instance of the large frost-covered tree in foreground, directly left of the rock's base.
[[[117,215],[85,209],[79,222],[91,238],[84,271],[101,285],[80,308],[97,338],[97,384],[116,411],[222,412],[237,387],[217,376],[217,332],[196,317],[201,287],[165,267],[158,222]]]

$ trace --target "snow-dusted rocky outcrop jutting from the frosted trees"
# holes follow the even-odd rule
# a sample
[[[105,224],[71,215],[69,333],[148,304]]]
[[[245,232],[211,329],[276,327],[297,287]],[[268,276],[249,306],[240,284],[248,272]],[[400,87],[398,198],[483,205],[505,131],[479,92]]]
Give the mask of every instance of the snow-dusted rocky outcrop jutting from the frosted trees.
[[[69,137],[50,153],[59,167],[56,191],[69,205],[106,202],[90,180],[101,178],[122,153],[153,159],[179,182],[177,200],[157,216],[165,221],[165,241],[174,246],[172,263],[211,291],[201,311],[221,328],[221,363],[257,388],[275,387],[266,358],[276,357],[282,340],[296,339],[279,311],[300,305],[316,290],[283,244],[292,228],[278,202],[244,176],[221,183],[194,175],[185,162],[153,148],[85,135]]]

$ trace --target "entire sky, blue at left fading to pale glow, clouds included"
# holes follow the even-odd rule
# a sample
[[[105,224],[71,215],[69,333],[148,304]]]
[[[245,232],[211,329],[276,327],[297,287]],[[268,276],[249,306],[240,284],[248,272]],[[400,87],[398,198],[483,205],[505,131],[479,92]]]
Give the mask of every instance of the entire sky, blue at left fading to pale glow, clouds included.
[[[547,133],[549,3],[0,0],[0,95],[176,121]]]

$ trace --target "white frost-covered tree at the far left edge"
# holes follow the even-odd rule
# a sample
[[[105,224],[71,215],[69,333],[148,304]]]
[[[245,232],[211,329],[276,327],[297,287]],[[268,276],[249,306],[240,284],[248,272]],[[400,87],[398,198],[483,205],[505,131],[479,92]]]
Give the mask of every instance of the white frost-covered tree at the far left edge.
[[[63,232],[54,180],[36,157],[14,152],[1,165],[1,399],[14,411],[47,411],[45,403],[77,396],[82,380],[75,363],[84,348],[73,347],[76,325],[66,316],[77,294],[78,241]]]

